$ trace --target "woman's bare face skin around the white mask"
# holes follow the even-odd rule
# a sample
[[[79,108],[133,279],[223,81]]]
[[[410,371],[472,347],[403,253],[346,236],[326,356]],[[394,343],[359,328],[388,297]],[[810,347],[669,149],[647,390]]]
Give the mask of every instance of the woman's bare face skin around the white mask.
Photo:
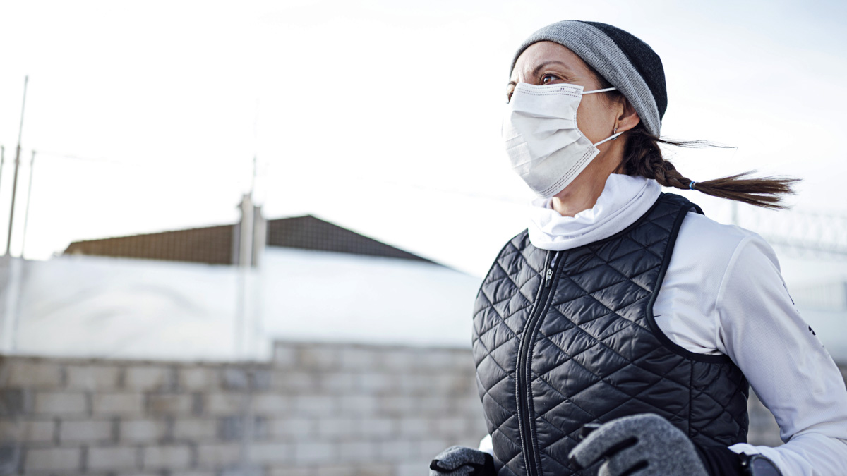
[[[583,86],[584,91],[601,89],[588,65],[571,50],[554,42],[534,43],[521,53],[512,70],[507,97],[512,97],[512,91],[519,82],[539,86],[567,83]],[[612,136],[615,129],[617,112],[604,96],[602,92],[586,94],[577,108],[579,130],[592,143]]]

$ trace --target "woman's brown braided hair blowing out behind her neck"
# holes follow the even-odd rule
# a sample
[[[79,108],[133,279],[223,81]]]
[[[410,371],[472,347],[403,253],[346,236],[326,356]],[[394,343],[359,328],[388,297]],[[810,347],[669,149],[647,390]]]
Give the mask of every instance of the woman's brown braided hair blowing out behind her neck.
[[[600,89],[613,87],[597,71],[585,64],[600,83]],[[620,91],[609,91],[604,95],[610,102],[627,101]],[[782,200],[785,196],[794,194],[792,186],[800,181],[793,177],[751,177],[755,170],[749,170],[741,174],[728,175],[714,180],[695,182],[680,174],[673,163],[662,157],[662,149],[659,144],[668,144],[677,147],[722,147],[709,141],[670,141],[653,136],[645,129],[644,123],[639,123],[633,129],[626,131],[622,137],[626,137],[626,146],[623,149],[623,160],[619,170],[623,174],[656,179],[660,185],[682,190],[696,190],[706,195],[728,198],[738,202],[750,203],[764,208],[788,208]]]

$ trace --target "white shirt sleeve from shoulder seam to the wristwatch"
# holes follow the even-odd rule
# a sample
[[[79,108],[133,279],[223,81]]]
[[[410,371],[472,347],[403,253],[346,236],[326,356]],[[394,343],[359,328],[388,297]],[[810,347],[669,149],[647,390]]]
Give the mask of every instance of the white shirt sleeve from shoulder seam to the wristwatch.
[[[718,350],[741,368],[776,418],[783,446],[738,444],[784,475],[847,474],[847,388],[794,307],[775,253],[758,235],[739,241],[715,308]]]

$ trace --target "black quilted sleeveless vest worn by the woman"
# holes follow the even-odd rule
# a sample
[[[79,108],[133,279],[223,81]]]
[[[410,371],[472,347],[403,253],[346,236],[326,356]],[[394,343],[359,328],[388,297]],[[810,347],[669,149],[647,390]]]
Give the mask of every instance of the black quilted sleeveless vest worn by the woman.
[[[657,413],[700,445],[746,440],[748,385],[740,369],[726,356],[674,344],[653,318],[692,208],[702,213],[682,196],[662,194],[605,240],[548,252],[523,231],[500,252],[473,315],[477,385],[498,476],[574,474],[567,454],[584,423],[636,413]]]

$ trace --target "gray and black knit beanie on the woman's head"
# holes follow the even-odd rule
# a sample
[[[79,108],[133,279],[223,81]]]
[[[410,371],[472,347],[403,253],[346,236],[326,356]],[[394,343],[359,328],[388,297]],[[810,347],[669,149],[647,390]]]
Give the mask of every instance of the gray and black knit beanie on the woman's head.
[[[659,136],[667,108],[665,70],[662,59],[647,43],[612,25],[566,19],[529,36],[515,53],[512,69],[523,50],[537,42],[555,42],[576,53],[617,87],[633,105],[647,131]]]

